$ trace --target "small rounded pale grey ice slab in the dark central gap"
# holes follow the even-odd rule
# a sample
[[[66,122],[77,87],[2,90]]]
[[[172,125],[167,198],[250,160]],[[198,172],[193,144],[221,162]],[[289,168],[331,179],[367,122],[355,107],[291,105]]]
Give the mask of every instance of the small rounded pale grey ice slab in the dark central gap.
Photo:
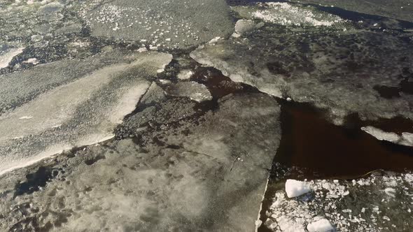
[[[211,93],[205,85],[194,81],[179,82],[170,85],[166,89],[167,94],[172,96],[187,96],[191,100],[202,102],[212,100]]]

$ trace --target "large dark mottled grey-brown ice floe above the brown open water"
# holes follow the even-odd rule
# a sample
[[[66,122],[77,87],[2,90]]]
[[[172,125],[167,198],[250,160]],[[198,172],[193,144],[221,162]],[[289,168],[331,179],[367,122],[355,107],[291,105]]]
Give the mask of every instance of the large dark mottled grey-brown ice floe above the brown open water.
[[[251,11],[251,6],[234,9]],[[241,17],[247,20],[248,14]],[[362,119],[413,118],[412,94],[385,98],[374,88],[399,86],[400,77],[412,72],[412,50],[412,43],[395,34],[343,31],[339,25],[293,29],[265,24],[247,38],[205,44],[190,56],[261,92],[327,108],[332,122],[342,124],[350,113]]]

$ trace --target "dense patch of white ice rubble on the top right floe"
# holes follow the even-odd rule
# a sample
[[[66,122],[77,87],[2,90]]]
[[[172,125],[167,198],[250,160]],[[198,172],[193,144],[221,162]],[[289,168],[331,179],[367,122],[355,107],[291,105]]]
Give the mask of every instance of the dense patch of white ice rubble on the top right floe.
[[[290,3],[258,3],[265,10],[257,10],[253,13],[256,19],[281,25],[294,26],[325,26],[344,22],[340,17],[326,13],[314,13],[314,10],[294,6]]]

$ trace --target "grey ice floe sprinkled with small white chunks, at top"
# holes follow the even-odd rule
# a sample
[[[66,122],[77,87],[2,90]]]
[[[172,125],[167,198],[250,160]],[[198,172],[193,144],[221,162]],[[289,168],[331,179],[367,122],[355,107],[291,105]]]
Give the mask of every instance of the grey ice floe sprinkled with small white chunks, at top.
[[[97,1],[81,12],[92,36],[141,41],[151,50],[191,48],[233,28],[223,0]]]

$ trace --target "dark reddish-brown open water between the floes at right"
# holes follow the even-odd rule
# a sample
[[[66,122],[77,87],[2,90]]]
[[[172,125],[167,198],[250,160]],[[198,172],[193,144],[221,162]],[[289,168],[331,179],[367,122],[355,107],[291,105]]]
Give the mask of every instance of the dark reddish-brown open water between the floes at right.
[[[283,101],[281,105],[283,132],[274,162],[305,169],[305,178],[352,179],[377,169],[413,170],[412,147],[379,141],[360,130],[372,125],[396,133],[412,132],[413,122],[408,119],[363,122],[351,115],[344,126],[336,126],[309,104]]]

